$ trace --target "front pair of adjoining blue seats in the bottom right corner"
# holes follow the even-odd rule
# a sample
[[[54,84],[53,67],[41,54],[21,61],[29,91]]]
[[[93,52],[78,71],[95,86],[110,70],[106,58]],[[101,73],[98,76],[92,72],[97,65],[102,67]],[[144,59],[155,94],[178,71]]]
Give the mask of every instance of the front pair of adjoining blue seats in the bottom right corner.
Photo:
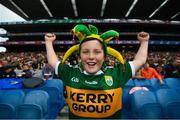
[[[132,94],[131,105],[133,118],[180,118],[180,94],[173,89],[159,89],[155,94],[138,90]]]

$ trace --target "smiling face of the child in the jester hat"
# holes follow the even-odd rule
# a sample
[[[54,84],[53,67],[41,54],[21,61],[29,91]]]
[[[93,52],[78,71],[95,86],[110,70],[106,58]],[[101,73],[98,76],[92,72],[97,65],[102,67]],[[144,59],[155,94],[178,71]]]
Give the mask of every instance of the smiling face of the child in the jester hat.
[[[101,43],[97,40],[90,40],[82,43],[80,60],[83,69],[90,74],[98,72],[104,62],[104,50]]]

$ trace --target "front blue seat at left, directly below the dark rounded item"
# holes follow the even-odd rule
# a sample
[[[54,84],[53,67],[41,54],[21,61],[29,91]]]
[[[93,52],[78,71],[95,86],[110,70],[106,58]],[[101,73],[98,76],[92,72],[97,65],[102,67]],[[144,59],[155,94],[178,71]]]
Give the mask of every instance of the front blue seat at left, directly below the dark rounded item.
[[[49,104],[49,95],[47,92],[43,90],[30,91],[26,94],[24,103],[18,107],[17,118],[48,118]]]

